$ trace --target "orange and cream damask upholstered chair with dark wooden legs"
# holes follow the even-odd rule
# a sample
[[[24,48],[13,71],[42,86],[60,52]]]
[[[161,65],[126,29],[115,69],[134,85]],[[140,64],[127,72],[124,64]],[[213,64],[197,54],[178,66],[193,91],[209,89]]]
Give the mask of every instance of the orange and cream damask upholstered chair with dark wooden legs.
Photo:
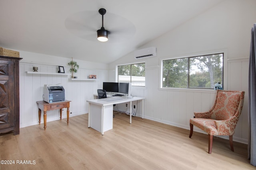
[[[233,134],[244,104],[244,92],[217,90],[214,106],[203,113],[194,112],[190,119],[190,135],[193,134],[193,125],[208,133],[208,153],[212,153],[214,135],[228,135],[231,150]]]

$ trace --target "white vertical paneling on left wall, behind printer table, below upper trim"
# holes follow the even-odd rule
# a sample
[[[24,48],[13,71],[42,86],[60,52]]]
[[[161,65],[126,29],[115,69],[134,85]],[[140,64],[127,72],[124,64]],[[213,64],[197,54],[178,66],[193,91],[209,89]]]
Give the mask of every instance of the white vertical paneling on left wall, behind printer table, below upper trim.
[[[29,74],[33,66],[37,66],[40,72],[48,74]],[[64,67],[65,73],[69,73],[69,67]],[[65,89],[65,98],[70,100],[70,117],[88,113],[86,100],[93,99],[93,94],[98,88],[102,88],[102,82],[108,78],[107,70],[92,70],[79,68],[76,76],[87,78],[89,74],[97,75],[95,81],[74,81],[70,75],[51,74],[58,72],[58,66],[47,64],[20,63],[20,127],[38,124],[38,106],[36,101],[43,100],[44,84],[61,84]],[[62,112],[62,118],[66,118],[66,108]],[[47,121],[60,119],[60,111],[47,111]],[[72,121],[72,118],[70,119]],[[41,123],[43,122],[43,114]]]

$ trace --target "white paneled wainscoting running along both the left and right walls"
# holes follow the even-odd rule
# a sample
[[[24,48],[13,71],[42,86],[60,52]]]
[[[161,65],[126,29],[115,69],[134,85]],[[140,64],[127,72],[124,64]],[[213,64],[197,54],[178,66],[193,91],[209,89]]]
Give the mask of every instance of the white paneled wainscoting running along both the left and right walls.
[[[248,58],[228,60],[227,89],[245,91],[244,108],[238,121],[234,134],[234,141],[248,142]],[[76,76],[87,78],[89,74],[96,74],[97,79],[69,80],[70,75],[28,74],[32,67],[37,66],[40,72],[57,72],[58,67],[46,64],[20,63],[20,127],[38,124],[38,107],[36,101],[42,100],[44,84],[62,84],[65,89],[66,99],[71,100],[70,117],[88,113],[86,100],[93,99],[93,94],[102,88],[102,82],[109,81],[115,76],[115,71],[92,70],[80,68]],[[64,67],[68,72],[68,67]],[[184,129],[189,129],[189,119],[194,116],[194,111],[207,111],[214,104],[215,90],[192,89],[167,89],[160,88],[158,81],[159,67],[146,68],[146,87],[132,88],[133,96],[144,96],[144,118],[162,122]],[[245,76],[246,75],[246,76]],[[158,80],[158,81],[156,81]],[[142,116],[142,102],[133,102],[136,116]],[[129,104],[118,104],[120,111],[129,111]],[[114,107],[116,109],[116,107]],[[62,117],[66,117],[66,109]],[[47,121],[58,120],[59,110],[48,111]],[[72,121],[72,119],[70,119]],[[86,126],[86,125],[85,125]],[[194,128],[195,131],[202,132]],[[188,134],[189,135],[189,134]]]

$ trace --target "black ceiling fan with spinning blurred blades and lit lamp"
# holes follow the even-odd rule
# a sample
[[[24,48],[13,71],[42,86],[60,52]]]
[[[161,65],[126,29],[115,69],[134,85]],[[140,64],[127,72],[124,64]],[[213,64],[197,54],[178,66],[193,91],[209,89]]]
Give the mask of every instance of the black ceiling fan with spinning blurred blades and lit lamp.
[[[102,23],[98,22],[99,13],[102,16]],[[104,39],[109,43],[119,43],[120,41],[127,41],[136,32],[134,24],[122,16],[107,13],[104,8],[97,11],[82,11],[74,13],[65,20],[65,26],[73,35],[89,41],[98,41]],[[103,16],[106,14],[105,25],[108,30],[104,28]],[[101,28],[99,29],[99,27]],[[97,35],[96,35],[97,32]],[[100,40],[99,40],[100,41]]]

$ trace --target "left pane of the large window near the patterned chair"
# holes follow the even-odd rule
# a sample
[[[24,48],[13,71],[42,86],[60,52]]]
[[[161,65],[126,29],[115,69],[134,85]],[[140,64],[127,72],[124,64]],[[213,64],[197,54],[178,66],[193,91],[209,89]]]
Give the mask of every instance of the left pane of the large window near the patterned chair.
[[[188,88],[188,58],[163,61],[164,88]]]

